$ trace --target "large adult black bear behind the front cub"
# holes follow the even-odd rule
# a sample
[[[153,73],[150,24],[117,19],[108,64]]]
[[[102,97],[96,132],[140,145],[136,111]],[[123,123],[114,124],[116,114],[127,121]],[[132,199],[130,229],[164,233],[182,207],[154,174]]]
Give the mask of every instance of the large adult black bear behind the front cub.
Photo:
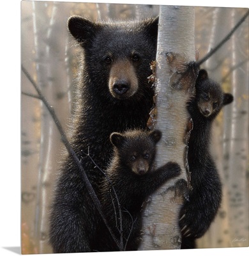
[[[98,196],[100,169],[107,168],[113,152],[110,134],[146,129],[154,95],[147,77],[156,58],[158,18],[91,22],[72,16],[68,29],[82,49],[69,140]],[[50,212],[50,244],[56,253],[91,252],[98,212],[72,157],[65,152],[62,158]]]

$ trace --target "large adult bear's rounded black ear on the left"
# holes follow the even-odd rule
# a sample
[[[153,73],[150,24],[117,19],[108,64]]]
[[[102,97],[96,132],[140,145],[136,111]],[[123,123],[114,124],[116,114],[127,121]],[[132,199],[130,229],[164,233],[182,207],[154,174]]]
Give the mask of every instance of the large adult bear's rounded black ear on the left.
[[[100,24],[91,22],[91,20],[73,15],[68,19],[68,30],[72,36],[83,46],[91,44],[96,32],[100,29]]]

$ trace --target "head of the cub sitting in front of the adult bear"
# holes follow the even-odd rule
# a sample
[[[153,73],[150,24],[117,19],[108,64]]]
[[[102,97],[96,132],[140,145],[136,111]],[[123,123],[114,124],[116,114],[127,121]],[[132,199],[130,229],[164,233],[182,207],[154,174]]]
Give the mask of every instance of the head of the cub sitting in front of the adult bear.
[[[155,130],[128,131],[123,134],[113,132],[110,141],[115,146],[115,156],[121,166],[128,167],[137,175],[144,175],[151,170],[156,153],[156,143],[162,134]]]

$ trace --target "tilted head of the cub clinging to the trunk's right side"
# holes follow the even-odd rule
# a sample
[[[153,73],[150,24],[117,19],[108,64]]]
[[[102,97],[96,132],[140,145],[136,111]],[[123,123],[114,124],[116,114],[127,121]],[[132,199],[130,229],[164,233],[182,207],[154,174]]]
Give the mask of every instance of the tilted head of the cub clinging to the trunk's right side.
[[[200,70],[195,82],[196,100],[200,113],[205,117],[215,116],[223,106],[232,102],[230,93],[224,93],[220,84],[209,79],[206,70]]]

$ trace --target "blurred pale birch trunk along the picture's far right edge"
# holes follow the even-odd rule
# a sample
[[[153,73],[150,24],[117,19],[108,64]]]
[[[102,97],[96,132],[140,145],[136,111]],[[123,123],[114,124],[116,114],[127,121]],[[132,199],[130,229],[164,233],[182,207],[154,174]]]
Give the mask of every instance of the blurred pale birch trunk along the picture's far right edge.
[[[241,15],[232,11],[232,26]],[[248,19],[247,19],[248,20]],[[245,35],[247,24],[243,24]],[[248,40],[242,40],[241,35],[232,37],[232,67],[247,60],[240,68],[232,72],[232,129],[230,133],[229,149],[229,223],[231,246],[248,246]],[[247,76],[245,76],[247,74]]]

